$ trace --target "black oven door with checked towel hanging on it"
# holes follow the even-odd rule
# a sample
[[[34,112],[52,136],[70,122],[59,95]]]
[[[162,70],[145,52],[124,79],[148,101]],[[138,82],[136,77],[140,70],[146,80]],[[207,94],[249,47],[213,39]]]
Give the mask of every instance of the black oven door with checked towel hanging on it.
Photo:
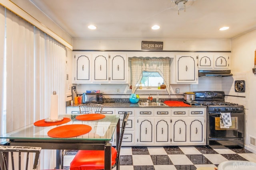
[[[208,113],[208,138],[243,138],[244,112],[230,112],[232,126],[224,128],[220,124],[220,113]]]

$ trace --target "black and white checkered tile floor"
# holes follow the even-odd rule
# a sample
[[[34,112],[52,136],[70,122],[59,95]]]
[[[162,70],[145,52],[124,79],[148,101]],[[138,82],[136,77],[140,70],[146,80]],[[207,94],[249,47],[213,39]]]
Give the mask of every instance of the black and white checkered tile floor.
[[[76,151],[64,156],[65,169]],[[226,160],[256,162],[256,154],[246,149],[208,149],[199,147],[122,147],[121,170],[196,170],[199,167],[218,167]]]

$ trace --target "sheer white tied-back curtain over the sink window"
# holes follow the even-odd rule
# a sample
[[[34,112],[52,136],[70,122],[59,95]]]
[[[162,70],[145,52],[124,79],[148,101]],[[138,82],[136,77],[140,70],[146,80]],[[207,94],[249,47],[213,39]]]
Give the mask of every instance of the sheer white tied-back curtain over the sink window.
[[[170,58],[132,57],[132,93],[137,90],[142,79],[142,71],[158,72],[164,79],[166,91],[170,95]]]

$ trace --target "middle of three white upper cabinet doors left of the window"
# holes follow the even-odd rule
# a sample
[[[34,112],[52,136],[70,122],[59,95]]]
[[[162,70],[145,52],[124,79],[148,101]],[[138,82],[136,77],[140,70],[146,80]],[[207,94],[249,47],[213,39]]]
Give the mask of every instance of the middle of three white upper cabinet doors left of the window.
[[[108,82],[108,55],[94,55],[94,82]]]

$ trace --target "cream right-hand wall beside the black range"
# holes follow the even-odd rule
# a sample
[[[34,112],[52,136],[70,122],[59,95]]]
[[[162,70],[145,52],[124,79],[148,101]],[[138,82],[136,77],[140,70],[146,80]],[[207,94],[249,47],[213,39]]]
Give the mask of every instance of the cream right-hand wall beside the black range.
[[[235,98],[238,102],[244,103],[246,107],[246,148],[256,153],[256,146],[250,145],[250,137],[256,139],[256,75],[252,73],[254,67],[254,51],[256,49],[256,30],[236,37],[231,41],[232,51],[232,72],[236,78],[246,80],[246,93],[235,94],[246,96],[246,98]],[[231,90],[233,91],[233,90]],[[234,93],[233,93],[234,94]],[[234,99],[232,99],[234,100]]]

